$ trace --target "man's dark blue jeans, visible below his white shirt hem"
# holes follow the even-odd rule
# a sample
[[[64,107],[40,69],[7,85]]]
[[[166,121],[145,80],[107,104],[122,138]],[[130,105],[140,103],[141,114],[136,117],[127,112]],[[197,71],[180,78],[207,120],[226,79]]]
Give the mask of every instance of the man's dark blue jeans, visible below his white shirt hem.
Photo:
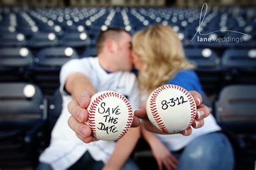
[[[69,167],[69,170],[73,169],[92,169],[92,170],[98,170],[102,169],[104,167],[103,161],[96,161],[91,157],[91,154],[89,152],[85,152],[83,156],[71,167]],[[122,168],[123,170],[129,170],[134,169],[138,170],[139,167],[135,164],[135,162],[132,159],[127,160],[126,164]],[[51,165],[40,162],[37,170],[52,170]]]

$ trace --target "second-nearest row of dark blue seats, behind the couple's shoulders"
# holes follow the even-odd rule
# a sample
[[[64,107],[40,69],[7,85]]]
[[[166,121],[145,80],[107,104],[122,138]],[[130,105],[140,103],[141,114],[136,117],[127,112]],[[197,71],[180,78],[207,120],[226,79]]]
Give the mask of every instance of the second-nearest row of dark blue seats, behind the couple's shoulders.
[[[218,93],[227,84],[256,84],[256,49],[227,49],[220,57],[210,48],[185,48],[185,54],[197,66],[207,94]],[[52,95],[65,62],[96,55],[96,48],[86,48],[80,55],[71,47],[44,48],[35,55],[26,47],[0,48],[0,82],[32,82],[44,95]]]

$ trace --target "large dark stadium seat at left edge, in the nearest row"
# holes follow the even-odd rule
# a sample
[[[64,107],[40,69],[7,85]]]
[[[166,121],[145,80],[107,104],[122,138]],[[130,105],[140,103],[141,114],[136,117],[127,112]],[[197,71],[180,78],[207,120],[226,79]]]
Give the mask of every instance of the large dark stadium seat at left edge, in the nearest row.
[[[0,89],[0,166],[31,168],[44,144],[46,101],[34,84],[0,83]]]

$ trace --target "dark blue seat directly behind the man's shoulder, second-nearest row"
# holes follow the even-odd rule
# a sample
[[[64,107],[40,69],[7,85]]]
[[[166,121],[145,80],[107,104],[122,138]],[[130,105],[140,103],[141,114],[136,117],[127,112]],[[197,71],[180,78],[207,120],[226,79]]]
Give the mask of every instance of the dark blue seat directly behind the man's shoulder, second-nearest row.
[[[44,48],[35,58],[35,67],[30,69],[34,83],[42,89],[44,95],[52,95],[59,87],[59,72],[62,65],[70,59],[79,58],[71,47]]]

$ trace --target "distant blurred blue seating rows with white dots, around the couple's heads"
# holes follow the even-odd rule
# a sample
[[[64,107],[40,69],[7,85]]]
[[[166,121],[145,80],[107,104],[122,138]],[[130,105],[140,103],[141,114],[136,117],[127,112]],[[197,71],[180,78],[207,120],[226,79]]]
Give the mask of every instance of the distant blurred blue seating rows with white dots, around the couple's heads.
[[[163,24],[172,26],[187,47],[255,47],[254,8],[216,6],[202,12],[200,8],[0,7],[0,46],[94,47],[99,31],[107,27],[123,27],[134,33],[146,26]],[[198,30],[205,35],[199,36]],[[192,40],[196,33],[211,42]],[[215,41],[217,38],[224,40]]]

